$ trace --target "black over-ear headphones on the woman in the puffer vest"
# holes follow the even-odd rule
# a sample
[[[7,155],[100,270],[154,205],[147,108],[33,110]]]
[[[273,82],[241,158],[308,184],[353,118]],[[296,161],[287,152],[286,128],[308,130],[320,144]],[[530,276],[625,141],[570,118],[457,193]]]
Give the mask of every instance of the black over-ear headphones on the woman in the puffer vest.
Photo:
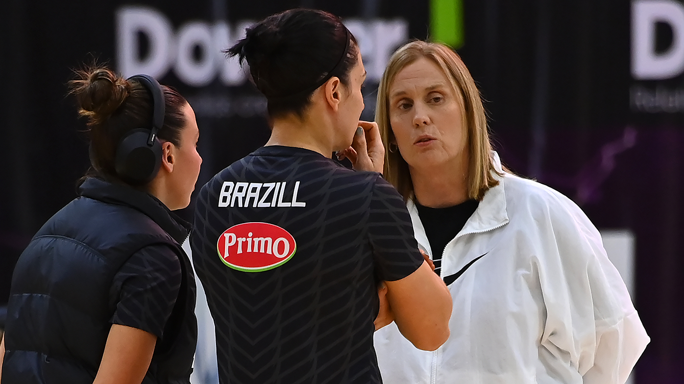
[[[152,96],[152,126],[135,128],[124,135],[116,147],[114,167],[116,174],[131,185],[150,182],[161,166],[161,142],[157,133],[164,124],[166,103],[161,85],[153,77],[136,74],[128,80],[136,80]]]

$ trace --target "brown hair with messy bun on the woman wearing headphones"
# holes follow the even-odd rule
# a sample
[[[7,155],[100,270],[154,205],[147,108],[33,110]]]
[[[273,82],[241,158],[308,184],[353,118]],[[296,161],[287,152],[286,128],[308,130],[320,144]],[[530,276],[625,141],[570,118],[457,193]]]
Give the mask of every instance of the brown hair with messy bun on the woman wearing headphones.
[[[70,81],[69,86],[70,93],[77,98],[79,115],[88,118],[92,168],[86,176],[120,181],[114,167],[116,147],[128,131],[150,128],[152,96],[135,79],[124,79],[104,66],[77,70],[76,79]],[[178,147],[186,123],[183,107],[187,100],[171,87],[162,85],[161,88],[166,113],[157,137]]]

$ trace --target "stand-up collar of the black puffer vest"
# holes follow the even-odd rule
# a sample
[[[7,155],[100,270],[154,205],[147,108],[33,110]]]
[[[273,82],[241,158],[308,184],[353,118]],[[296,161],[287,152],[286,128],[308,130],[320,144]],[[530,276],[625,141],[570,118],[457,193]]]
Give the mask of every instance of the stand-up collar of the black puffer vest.
[[[157,197],[127,185],[113,184],[99,178],[88,178],[79,187],[79,194],[108,204],[130,206],[153,219],[176,243],[182,244],[192,224],[171,212]]]

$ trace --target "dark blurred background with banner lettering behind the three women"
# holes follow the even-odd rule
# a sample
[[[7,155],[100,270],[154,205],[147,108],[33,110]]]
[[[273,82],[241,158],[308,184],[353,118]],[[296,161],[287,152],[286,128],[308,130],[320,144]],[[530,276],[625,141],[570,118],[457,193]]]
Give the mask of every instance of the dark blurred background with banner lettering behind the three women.
[[[684,383],[681,0],[3,0],[0,306],[16,258],[88,168],[72,70],[97,61],[176,87],[198,118],[201,185],[269,137],[265,99],[222,49],[299,6],[341,16],[358,39],[367,120],[397,46],[430,37],[457,49],[503,162],[568,195],[605,234],[652,338],[634,382]]]

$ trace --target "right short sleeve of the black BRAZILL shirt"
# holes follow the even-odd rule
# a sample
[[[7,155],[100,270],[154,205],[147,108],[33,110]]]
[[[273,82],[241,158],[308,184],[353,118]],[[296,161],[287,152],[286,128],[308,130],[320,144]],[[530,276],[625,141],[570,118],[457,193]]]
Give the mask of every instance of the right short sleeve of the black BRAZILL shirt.
[[[423,256],[413,236],[411,217],[402,196],[378,176],[370,204],[368,234],[381,280],[392,282],[414,273]]]

